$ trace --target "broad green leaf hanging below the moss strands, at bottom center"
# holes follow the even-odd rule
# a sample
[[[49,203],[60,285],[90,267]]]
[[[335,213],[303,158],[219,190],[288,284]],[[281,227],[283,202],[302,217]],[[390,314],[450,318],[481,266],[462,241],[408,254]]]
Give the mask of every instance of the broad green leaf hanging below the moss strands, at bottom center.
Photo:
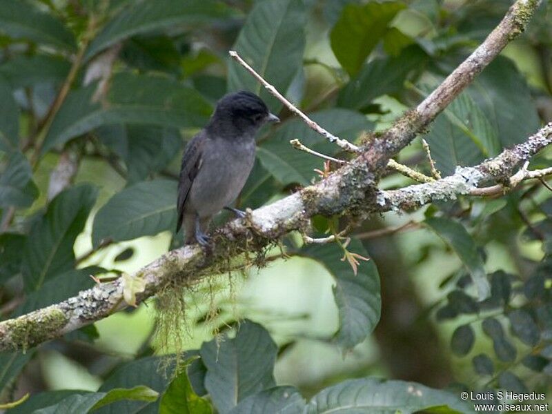
[[[273,370],[277,346],[255,322],[239,324],[233,339],[204,343],[200,353],[207,367],[205,386],[221,414],[245,397],[276,385]]]

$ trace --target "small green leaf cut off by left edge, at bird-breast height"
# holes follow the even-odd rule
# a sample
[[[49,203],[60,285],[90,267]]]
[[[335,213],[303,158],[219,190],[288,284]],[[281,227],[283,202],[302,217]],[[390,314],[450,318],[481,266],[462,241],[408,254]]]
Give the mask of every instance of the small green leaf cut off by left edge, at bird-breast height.
[[[38,196],[32,170],[21,152],[10,155],[8,166],[0,175],[0,207],[29,207]]]

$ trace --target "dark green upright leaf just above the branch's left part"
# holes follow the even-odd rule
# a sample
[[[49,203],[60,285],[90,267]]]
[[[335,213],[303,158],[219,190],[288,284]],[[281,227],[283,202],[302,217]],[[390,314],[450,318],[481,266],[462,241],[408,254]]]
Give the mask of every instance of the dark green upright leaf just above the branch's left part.
[[[27,292],[73,268],[73,244],[96,201],[97,190],[83,184],[63,190],[30,230],[23,248],[23,281]]]

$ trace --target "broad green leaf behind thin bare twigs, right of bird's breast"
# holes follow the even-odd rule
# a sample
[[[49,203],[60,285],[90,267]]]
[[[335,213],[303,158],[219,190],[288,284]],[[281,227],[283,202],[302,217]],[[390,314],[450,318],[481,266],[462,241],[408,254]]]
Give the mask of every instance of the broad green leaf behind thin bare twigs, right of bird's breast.
[[[339,108],[321,110],[309,117],[334,135],[349,141],[355,141],[359,132],[371,127],[364,115]],[[309,184],[316,177],[315,168],[324,169],[324,161],[296,150],[290,145],[290,139],[299,139],[308,148],[326,155],[335,155],[339,151],[335,144],[308,128],[302,120],[287,121],[257,147],[257,157],[262,166],[284,185]]]

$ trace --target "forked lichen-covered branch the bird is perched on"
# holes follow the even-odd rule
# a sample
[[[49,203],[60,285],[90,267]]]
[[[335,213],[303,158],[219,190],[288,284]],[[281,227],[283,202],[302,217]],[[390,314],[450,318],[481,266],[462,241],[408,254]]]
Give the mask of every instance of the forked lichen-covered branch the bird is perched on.
[[[550,144],[552,124],[530,137],[525,144],[506,150],[480,166],[458,168],[451,177],[402,190],[377,189],[377,180],[388,160],[414,139],[500,53],[509,40],[524,30],[537,6],[537,0],[516,1],[497,28],[451,76],[415,110],[399,119],[382,137],[368,144],[364,152],[349,164],[317,184],[248,212],[245,219],[230,221],[215,233],[212,250],[203,250],[197,245],[184,246],[166,253],[132,275],[142,279],[145,286],[144,292],[137,294],[137,303],[167,284],[193,284],[213,274],[215,269],[220,271],[230,257],[275,244],[282,235],[306,228],[313,215],[354,213],[362,216],[377,211],[413,208],[435,199],[448,200],[458,195],[469,195],[477,184],[486,181],[509,179],[520,162]],[[121,279],[84,290],[59,304],[0,322],[0,350],[35,346],[124,308],[124,282]]]

